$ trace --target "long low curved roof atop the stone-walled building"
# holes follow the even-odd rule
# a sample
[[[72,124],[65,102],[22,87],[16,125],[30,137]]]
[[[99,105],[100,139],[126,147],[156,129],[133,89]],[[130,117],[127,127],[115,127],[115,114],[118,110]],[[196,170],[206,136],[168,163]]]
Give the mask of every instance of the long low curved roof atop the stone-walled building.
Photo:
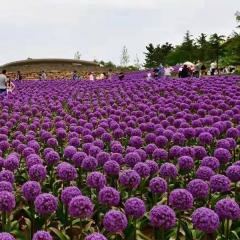
[[[76,59],[61,59],[61,58],[43,58],[43,59],[27,59],[16,62],[10,62],[2,65],[1,67],[13,67],[20,65],[32,65],[32,64],[46,64],[46,63],[59,63],[59,64],[72,64],[72,65],[85,65],[85,66],[99,66],[98,63],[76,60]]]

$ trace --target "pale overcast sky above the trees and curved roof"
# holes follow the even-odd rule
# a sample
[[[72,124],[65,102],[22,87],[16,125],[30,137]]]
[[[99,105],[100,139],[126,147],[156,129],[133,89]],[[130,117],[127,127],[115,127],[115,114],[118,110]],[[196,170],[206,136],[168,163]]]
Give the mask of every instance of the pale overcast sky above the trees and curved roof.
[[[240,0],[0,0],[0,65],[30,58],[133,63],[149,43],[179,44],[190,30],[229,35]]]

